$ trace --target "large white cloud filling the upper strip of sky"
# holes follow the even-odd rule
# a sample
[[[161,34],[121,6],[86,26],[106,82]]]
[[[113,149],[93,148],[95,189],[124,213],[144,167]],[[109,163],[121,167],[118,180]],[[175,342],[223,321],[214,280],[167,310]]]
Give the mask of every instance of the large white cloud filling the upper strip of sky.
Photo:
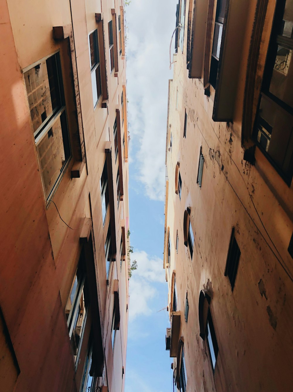
[[[152,200],[164,199],[169,47],[177,2],[136,0],[126,8],[130,162]]]

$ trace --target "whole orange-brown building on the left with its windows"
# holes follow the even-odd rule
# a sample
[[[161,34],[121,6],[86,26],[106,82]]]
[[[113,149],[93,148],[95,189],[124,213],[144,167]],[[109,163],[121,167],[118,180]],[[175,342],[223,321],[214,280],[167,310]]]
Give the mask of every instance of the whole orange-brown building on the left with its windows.
[[[123,391],[124,1],[0,11],[0,391]]]

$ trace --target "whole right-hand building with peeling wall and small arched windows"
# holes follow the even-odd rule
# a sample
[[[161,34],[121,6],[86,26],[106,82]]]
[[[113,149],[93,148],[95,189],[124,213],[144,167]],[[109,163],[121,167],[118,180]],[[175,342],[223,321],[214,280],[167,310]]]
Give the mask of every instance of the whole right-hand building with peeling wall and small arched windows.
[[[174,383],[289,391],[293,2],[180,0],[178,25],[164,241]]]

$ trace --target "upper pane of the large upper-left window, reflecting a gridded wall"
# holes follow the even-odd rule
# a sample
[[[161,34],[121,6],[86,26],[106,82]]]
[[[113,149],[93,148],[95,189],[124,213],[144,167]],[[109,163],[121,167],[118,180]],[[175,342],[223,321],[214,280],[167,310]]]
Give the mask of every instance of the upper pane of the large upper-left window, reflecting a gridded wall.
[[[34,132],[61,106],[56,56],[49,57],[24,73]]]

